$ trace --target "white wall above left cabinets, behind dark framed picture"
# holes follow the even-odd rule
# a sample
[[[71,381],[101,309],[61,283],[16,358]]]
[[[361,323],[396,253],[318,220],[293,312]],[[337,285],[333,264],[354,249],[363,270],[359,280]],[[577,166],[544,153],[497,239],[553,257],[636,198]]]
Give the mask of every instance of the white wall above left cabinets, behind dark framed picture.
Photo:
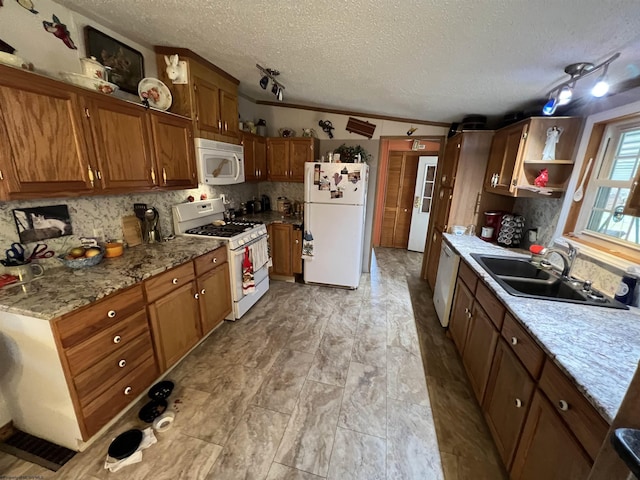
[[[35,2],[38,14],[22,8],[17,2],[7,1],[0,7],[0,39],[16,49],[16,54],[33,63],[35,71],[52,77],[59,77],[59,72],[81,73],[80,58],[86,56],[84,27],[91,25],[97,30],[138,50],[144,57],[145,76],[157,77],[155,53],[146,45],[140,45],[94,22],[93,20],[73,12],[51,0]],[[45,31],[44,20],[51,21],[56,15],[67,26],[71,39],[77,50],[68,48],[62,40]],[[118,96],[137,99],[125,92]]]

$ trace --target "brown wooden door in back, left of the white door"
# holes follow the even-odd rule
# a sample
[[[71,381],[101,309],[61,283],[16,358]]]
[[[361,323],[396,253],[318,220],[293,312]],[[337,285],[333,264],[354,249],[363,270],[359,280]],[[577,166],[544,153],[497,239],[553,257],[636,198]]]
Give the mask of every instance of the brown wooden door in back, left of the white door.
[[[380,246],[407,248],[420,154],[390,152]]]

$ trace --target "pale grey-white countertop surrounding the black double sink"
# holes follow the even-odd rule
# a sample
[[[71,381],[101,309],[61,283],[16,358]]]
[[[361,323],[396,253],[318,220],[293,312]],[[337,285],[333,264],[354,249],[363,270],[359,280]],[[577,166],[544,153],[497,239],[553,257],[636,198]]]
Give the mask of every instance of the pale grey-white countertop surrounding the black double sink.
[[[611,423],[640,359],[640,309],[515,297],[498,285],[471,253],[521,254],[477,237],[444,234],[444,238]]]

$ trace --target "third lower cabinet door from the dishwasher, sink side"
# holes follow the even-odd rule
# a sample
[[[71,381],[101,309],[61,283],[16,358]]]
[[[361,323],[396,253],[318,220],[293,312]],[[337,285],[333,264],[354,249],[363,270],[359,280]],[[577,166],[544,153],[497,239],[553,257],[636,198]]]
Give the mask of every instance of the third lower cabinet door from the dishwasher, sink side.
[[[529,410],[535,383],[504,340],[498,342],[482,410],[507,469]]]

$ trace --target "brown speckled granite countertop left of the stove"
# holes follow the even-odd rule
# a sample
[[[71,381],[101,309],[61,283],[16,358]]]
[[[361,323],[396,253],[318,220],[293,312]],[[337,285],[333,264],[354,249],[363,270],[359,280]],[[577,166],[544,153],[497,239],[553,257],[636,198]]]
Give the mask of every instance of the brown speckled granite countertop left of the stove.
[[[222,245],[224,241],[205,237],[176,237],[127,248],[122,256],[104,258],[94,267],[47,268],[28,284],[0,289],[0,315],[10,312],[52,320]]]

